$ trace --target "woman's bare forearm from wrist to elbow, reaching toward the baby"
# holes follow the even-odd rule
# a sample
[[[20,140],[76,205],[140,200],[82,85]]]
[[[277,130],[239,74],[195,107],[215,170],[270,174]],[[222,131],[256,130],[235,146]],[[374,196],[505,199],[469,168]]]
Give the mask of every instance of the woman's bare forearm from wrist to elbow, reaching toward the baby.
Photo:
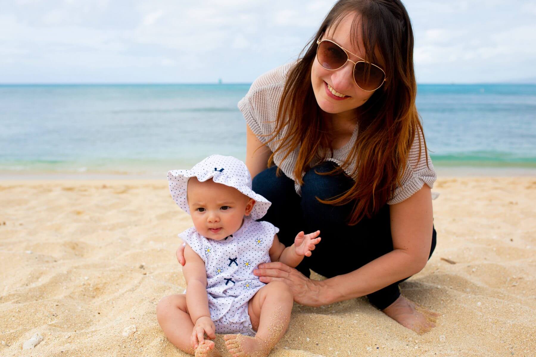
[[[327,304],[359,298],[412,276],[422,268],[422,262],[403,249],[394,249],[357,270],[321,282],[323,300]]]

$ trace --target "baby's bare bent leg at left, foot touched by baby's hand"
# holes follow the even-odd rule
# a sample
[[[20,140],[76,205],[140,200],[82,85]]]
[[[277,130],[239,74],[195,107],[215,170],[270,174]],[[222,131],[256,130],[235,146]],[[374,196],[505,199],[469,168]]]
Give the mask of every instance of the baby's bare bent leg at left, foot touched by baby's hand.
[[[219,356],[214,350],[214,343],[203,341],[196,350],[193,350],[190,337],[193,323],[188,314],[186,295],[169,295],[160,299],[157,305],[157,320],[168,340],[182,351],[196,356]]]

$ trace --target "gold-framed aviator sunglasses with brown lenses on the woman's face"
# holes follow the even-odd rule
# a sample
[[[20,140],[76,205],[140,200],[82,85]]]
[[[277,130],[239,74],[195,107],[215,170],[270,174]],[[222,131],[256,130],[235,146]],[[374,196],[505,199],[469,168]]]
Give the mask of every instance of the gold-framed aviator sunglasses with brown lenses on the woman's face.
[[[318,63],[320,63],[324,69],[336,71],[350,61],[354,64],[354,82],[359,88],[366,90],[367,92],[373,92],[373,90],[376,90],[383,85],[383,82],[385,82],[387,78],[385,78],[385,72],[380,67],[367,62],[358,55],[354,55],[352,52],[331,40],[320,41],[323,34],[324,33],[321,33],[316,41],[318,44],[318,47],[316,48],[316,58],[318,59]],[[348,58],[348,54],[352,54],[361,60],[354,62]]]

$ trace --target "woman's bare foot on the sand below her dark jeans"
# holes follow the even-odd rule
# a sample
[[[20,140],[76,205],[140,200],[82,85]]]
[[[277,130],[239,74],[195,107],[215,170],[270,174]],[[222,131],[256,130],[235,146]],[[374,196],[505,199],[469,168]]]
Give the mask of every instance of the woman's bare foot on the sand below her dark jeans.
[[[399,324],[422,335],[435,327],[436,317],[440,314],[429,311],[407,300],[402,295],[391,305],[382,310]]]

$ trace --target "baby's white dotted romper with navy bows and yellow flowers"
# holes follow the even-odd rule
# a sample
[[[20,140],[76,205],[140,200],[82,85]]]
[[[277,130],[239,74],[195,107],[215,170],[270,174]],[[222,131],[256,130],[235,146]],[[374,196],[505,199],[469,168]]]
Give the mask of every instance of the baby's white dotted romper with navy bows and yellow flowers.
[[[178,234],[205,262],[210,317],[216,333],[255,336],[248,301],[263,287],[253,270],[270,262],[269,250],[279,229],[270,222],[244,216],[235,233],[222,240],[207,239],[190,227]]]

